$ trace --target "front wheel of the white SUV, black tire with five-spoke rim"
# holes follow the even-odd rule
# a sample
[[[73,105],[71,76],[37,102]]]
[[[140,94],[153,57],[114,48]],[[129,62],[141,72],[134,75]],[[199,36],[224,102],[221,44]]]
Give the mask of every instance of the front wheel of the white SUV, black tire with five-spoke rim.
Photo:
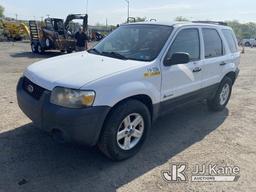
[[[110,113],[101,133],[99,149],[115,161],[130,158],[142,147],[150,127],[151,115],[143,103],[123,102]]]

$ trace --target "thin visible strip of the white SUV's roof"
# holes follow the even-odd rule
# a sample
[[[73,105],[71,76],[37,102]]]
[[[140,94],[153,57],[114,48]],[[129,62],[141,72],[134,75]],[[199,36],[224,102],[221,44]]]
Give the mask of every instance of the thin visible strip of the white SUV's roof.
[[[146,21],[146,22],[136,22],[136,23],[129,23],[129,24],[124,24],[124,25],[138,25],[138,24],[143,24],[143,25],[164,25],[164,26],[172,26],[172,27],[183,27],[183,26],[211,26],[211,27],[215,27],[215,28],[227,28],[227,29],[231,29],[230,27],[226,26],[226,25],[221,25],[216,23],[205,23],[205,22],[159,22],[159,21]]]

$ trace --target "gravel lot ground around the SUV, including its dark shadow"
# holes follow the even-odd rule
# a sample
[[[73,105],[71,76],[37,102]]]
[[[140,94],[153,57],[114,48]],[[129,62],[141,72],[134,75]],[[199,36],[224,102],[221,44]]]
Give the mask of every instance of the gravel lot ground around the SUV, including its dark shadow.
[[[20,111],[15,87],[29,64],[44,56],[26,43],[0,43],[0,192],[256,191],[256,50],[246,49],[227,108],[190,105],[161,117],[135,157],[111,162],[96,148],[63,145],[37,130]],[[169,163],[239,166],[237,182],[166,183]],[[189,173],[188,173],[189,174]]]

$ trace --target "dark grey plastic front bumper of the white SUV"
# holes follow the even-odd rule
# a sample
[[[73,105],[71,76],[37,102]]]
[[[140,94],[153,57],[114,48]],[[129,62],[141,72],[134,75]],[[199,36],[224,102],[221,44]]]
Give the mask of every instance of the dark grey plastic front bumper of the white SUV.
[[[17,85],[17,99],[21,110],[33,123],[47,132],[57,131],[66,141],[93,146],[97,143],[108,106],[69,109],[50,103],[51,92],[45,90],[39,100],[23,88],[23,77]]]

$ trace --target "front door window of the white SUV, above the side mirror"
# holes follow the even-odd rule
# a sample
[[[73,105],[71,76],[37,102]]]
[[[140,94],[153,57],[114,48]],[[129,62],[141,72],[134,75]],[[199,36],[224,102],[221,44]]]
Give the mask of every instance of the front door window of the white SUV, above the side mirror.
[[[190,55],[191,61],[200,60],[200,40],[198,29],[183,29],[175,37],[167,58],[171,58],[174,53],[185,52]]]

